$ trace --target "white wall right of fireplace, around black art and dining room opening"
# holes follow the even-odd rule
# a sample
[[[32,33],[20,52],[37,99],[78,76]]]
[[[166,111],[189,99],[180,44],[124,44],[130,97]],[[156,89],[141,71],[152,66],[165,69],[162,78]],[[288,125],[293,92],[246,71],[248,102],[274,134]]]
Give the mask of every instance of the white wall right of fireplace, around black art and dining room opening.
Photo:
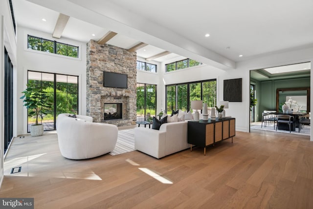
[[[165,108],[165,85],[216,79],[217,80],[217,101],[222,101],[224,97],[223,84],[225,79],[242,78],[243,79],[243,101],[242,102],[229,102],[229,108],[226,110],[227,116],[236,118],[236,130],[249,132],[249,108],[250,108],[250,70],[256,70],[261,68],[276,67],[282,65],[290,65],[301,62],[310,62],[313,66],[313,47],[309,47],[301,50],[293,50],[290,52],[281,52],[276,54],[270,54],[261,58],[255,58],[248,61],[242,61],[237,63],[235,70],[219,70],[217,68],[203,65],[190,69],[177,70],[172,72],[165,72],[165,63],[160,65],[159,79],[160,82],[159,91],[161,95],[158,97],[161,101],[158,101]],[[163,68],[163,69],[162,69]],[[311,67],[312,69],[312,67]],[[311,76],[312,73],[311,73]],[[311,78],[311,84],[313,79]],[[312,94],[312,91],[311,91]],[[313,96],[311,95],[311,104],[313,104]],[[312,128],[312,127],[311,127]],[[311,130],[313,133],[313,130]],[[312,135],[311,135],[312,140]]]

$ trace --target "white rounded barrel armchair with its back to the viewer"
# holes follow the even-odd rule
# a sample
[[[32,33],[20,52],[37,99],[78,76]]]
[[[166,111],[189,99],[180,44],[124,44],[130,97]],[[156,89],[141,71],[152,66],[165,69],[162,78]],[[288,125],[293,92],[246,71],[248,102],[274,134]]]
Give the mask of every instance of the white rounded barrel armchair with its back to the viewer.
[[[115,125],[93,123],[92,117],[58,115],[56,129],[62,156],[73,159],[94,158],[112,152],[118,129]],[[72,116],[72,115],[71,115]]]

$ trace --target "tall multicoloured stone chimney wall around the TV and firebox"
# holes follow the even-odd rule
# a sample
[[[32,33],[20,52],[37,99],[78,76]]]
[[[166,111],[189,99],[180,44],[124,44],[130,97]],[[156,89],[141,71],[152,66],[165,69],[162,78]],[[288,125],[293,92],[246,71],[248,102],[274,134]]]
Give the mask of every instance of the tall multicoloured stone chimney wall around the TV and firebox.
[[[128,88],[103,87],[103,71],[127,74]],[[87,43],[87,116],[94,122],[133,125],[136,121],[136,52],[108,44]],[[104,120],[104,103],[122,103],[123,119]]]

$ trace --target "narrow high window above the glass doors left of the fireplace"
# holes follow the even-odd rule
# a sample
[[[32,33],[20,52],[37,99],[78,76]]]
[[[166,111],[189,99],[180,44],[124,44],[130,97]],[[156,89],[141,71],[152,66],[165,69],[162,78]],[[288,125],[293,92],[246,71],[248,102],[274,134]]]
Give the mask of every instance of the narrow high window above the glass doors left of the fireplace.
[[[72,46],[30,35],[28,35],[28,48],[69,57],[78,57],[78,46]]]

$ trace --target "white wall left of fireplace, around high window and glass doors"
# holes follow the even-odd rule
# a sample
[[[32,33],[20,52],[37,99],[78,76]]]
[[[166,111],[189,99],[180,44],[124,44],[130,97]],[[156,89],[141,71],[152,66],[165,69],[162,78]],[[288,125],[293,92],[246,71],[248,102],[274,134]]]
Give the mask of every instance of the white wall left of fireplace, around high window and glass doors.
[[[17,87],[17,114],[22,116],[17,120],[18,135],[27,133],[27,111],[23,107],[22,91],[27,83],[27,70],[53,72],[79,76],[79,114],[86,115],[86,43],[69,39],[54,39],[51,34],[18,27],[18,87]],[[31,50],[27,48],[27,35],[55,40],[65,44],[79,46],[79,58],[72,58],[58,54]]]

